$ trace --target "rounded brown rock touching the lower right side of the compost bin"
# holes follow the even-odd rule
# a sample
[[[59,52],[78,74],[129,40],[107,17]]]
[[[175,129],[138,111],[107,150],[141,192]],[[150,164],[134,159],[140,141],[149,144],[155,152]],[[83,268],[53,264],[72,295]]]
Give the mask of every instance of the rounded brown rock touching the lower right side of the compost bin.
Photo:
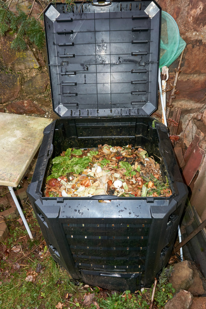
[[[179,262],[174,265],[174,272],[172,273],[170,282],[176,292],[179,292],[179,290],[188,290],[193,281],[193,270],[189,261]]]

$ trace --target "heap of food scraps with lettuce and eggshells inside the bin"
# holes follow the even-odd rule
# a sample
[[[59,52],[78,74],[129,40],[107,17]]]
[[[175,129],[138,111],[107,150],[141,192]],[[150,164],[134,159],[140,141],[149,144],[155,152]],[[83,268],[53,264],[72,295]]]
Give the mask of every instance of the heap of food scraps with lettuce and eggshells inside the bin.
[[[146,150],[99,145],[98,148],[68,148],[53,159],[47,177],[46,197],[169,197],[160,165]]]

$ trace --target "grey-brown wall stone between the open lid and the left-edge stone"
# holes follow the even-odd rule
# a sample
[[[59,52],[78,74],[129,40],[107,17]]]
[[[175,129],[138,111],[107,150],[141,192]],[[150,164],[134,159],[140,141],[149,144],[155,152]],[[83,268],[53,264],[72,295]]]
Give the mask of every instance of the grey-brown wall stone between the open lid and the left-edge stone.
[[[23,89],[27,95],[37,95],[45,92],[48,84],[48,77],[45,73],[34,76],[29,79],[24,85]]]

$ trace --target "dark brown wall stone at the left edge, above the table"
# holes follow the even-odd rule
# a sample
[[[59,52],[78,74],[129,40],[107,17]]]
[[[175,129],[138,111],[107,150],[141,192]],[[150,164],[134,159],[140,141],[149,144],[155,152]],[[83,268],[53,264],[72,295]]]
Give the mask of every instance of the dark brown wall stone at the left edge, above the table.
[[[16,99],[20,88],[20,74],[6,73],[6,71],[2,71],[0,74],[0,103]]]

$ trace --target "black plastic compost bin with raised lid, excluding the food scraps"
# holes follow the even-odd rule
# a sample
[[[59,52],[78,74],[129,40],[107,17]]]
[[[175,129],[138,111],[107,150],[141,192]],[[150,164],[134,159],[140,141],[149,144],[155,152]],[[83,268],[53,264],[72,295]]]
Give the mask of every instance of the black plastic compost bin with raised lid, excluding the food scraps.
[[[54,111],[27,193],[57,261],[75,280],[149,287],[168,263],[187,189],[157,108],[161,9],[153,1],[50,4],[44,13]],[[43,197],[51,159],[68,147],[145,148],[172,196]],[[104,203],[99,203],[105,200]]]

